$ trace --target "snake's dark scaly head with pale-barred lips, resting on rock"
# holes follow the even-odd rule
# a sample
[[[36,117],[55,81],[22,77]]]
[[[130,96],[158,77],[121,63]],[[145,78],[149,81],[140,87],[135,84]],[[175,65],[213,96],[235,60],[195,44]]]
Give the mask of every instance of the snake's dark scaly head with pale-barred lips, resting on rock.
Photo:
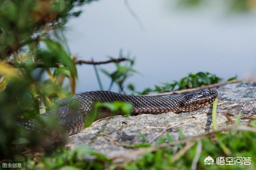
[[[188,92],[181,97],[186,100],[180,104],[182,111],[193,111],[212,103],[217,98],[218,92],[211,88]]]

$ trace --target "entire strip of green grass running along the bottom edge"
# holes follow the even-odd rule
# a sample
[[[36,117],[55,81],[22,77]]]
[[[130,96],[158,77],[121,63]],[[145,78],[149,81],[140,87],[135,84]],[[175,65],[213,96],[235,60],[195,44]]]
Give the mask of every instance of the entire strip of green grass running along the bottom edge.
[[[251,126],[256,127],[256,122],[252,121]],[[180,131],[180,135],[182,135],[182,131]],[[179,138],[184,139],[182,136]],[[98,154],[85,146],[79,146],[72,151],[62,148],[52,153],[50,156],[42,155],[36,160],[32,156],[29,156],[26,157],[25,164],[26,169],[57,169],[70,166],[78,169],[190,169],[196,155],[197,147],[199,147],[198,145],[201,143],[202,152],[199,153],[197,169],[253,169],[256,164],[256,159],[254,158],[256,154],[255,140],[256,133],[231,130],[227,133],[215,133],[212,136],[206,136],[196,141],[191,140],[187,143],[173,145],[172,147],[164,147],[152,152],[144,152],[139,159],[126,161],[124,164],[115,164],[110,158]],[[156,141],[156,146],[145,144],[137,144],[137,146],[142,148],[154,148],[172,141],[173,137],[166,132],[166,137],[160,137],[160,139]],[[185,149],[185,146],[189,144],[192,145]],[[225,149],[228,150],[228,153]],[[180,154],[181,150],[184,151],[183,154]],[[221,156],[251,157],[252,160],[250,166],[240,164],[223,166],[216,165],[216,163],[214,165],[206,165],[204,164],[204,158],[209,155],[215,159],[215,162],[216,158]]]

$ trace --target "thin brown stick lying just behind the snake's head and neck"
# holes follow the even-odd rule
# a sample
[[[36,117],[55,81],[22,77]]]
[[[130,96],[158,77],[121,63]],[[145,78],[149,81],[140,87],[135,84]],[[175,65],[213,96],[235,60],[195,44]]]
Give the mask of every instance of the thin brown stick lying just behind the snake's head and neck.
[[[176,90],[176,91],[171,91],[171,92],[164,92],[164,93],[159,93],[159,94],[147,94],[145,96],[164,96],[167,94],[181,94],[181,93],[187,93],[187,92],[192,92],[192,91],[197,91],[203,88],[215,88],[215,87],[220,87],[224,86],[226,84],[230,83],[237,83],[237,82],[242,82],[242,80],[231,80],[228,82],[223,82],[223,83],[217,83],[217,84],[211,84],[207,86],[201,86],[201,87],[196,87],[196,88],[189,88],[189,89],[184,89],[184,90]]]

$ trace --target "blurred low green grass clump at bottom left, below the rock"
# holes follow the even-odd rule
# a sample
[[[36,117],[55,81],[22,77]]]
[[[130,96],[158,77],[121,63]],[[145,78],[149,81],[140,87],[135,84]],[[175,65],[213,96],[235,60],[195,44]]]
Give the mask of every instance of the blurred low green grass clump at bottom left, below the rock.
[[[38,160],[35,160],[33,156],[27,156],[25,161],[25,168],[27,170],[100,170],[111,163],[111,160],[103,154],[99,154],[82,145],[76,147],[73,151],[60,148],[51,155],[42,155]]]

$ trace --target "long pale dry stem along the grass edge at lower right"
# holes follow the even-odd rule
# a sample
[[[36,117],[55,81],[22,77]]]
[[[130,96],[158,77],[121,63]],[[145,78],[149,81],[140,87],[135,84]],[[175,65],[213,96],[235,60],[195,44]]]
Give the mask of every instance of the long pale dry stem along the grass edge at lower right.
[[[154,152],[154,151],[156,151],[158,149],[161,149],[161,148],[166,148],[166,147],[170,147],[170,146],[173,146],[173,145],[186,143],[186,142],[189,142],[189,141],[202,139],[203,137],[206,137],[206,136],[211,136],[211,135],[216,134],[216,133],[227,132],[227,131],[231,131],[231,130],[234,130],[234,131],[237,131],[237,130],[250,131],[250,132],[255,132],[256,133],[256,128],[253,128],[253,127],[248,127],[248,126],[244,126],[244,125],[231,125],[228,128],[220,129],[218,131],[212,131],[210,133],[206,133],[206,134],[202,134],[202,135],[198,135],[198,136],[194,136],[194,137],[188,137],[188,138],[180,139],[180,140],[173,141],[173,142],[170,142],[170,143],[160,144],[160,145],[154,146],[154,147],[148,147],[148,148],[145,148],[145,149],[134,150],[134,151],[128,152],[126,154],[121,154],[121,155],[118,155],[118,156],[114,156],[110,159],[116,160],[116,159],[120,159],[120,158],[127,158],[129,156],[141,155],[141,154],[144,154],[145,152]]]

